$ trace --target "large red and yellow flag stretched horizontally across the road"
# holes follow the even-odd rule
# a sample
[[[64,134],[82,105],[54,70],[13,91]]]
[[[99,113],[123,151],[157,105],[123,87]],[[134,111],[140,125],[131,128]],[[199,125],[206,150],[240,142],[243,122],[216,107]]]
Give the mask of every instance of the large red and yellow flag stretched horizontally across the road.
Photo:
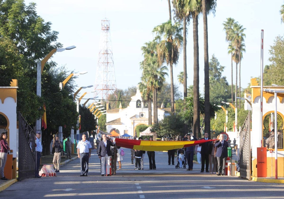
[[[191,140],[191,141],[150,141],[150,140],[128,140],[116,138],[116,145],[143,151],[166,151],[195,146],[212,140]]]

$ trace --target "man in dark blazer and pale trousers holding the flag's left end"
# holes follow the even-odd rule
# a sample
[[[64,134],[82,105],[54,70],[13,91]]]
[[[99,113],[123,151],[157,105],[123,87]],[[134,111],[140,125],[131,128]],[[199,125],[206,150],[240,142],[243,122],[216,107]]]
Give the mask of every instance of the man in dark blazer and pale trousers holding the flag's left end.
[[[115,138],[113,142],[106,139],[106,135],[103,134],[103,140],[99,143],[98,155],[99,159],[101,159],[101,174],[104,176],[105,174],[105,161],[106,161],[106,175],[110,176],[109,174],[109,162],[111,156],[111,149],[110,146],[115,146]],[[107,174],[108,173],[108,174]]]

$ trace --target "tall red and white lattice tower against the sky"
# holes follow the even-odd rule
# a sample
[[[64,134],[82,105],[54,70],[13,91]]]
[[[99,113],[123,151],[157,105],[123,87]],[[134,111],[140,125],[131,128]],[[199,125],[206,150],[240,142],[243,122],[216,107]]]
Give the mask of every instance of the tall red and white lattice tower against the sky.
[[[98,99],[108,100],[108,96],[116,90],[114,63],[110,40],[110,21],[102,20],[99,59],[95,80],[95,93]]]

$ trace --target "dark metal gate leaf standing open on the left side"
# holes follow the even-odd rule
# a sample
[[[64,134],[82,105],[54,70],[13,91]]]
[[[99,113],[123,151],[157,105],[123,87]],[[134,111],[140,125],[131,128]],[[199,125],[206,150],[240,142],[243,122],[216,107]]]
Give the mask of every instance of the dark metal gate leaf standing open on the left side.
[[[35,133],[19,112],[18,180],[35,177]]]

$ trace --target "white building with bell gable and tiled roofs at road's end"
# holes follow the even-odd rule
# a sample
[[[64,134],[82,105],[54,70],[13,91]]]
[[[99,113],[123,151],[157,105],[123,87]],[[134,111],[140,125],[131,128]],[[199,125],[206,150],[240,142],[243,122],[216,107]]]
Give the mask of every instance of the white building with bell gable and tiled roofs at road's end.
[[[151,103],[151,106],[153,113],[153,103]],[[170,108],[158,108],[158,121],[170,115],[168,111],[170,111]],[[128,107],[122,109],[120,105],[120,108],[107,110],[106,130],[108,133],[116,131],[120,136],[124,134],[135,136],[137,125],[149,125],[148,117],[148,103],[142,100],[140,90],[137,86],[136,94],[131,97]],[[153,115],[151,117],[153,121]]]

